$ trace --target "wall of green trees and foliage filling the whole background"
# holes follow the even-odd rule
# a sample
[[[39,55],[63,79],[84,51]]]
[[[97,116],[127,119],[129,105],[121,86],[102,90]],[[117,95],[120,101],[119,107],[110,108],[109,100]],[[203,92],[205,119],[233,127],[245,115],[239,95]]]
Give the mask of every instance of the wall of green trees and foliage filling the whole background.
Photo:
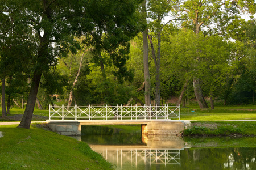
[[[144,1],[146,23],[141,2],[1,1],[7,111],[26,103],[31,113],[35,101],[44,109],[56,101],[143,105],[142,31],[150,47],[152,104],[169,104],[171,97],[200,101],[200,95],[212,108],[216,101],[255,104],[253,1]],[[251,18],[241,19],[242,11]]]

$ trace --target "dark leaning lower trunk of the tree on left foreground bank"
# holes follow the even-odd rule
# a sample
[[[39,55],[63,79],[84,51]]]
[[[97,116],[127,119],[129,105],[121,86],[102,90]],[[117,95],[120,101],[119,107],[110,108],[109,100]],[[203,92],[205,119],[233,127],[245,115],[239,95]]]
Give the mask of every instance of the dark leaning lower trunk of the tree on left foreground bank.
[[[30,129],[30,124],[34,112],[36,95],[38,94],[38,87],[42,76],[42,70],[36,70],[31,82],[30,93],[27,99],[26,109],[24,111],[22,121],[19,124],[19,128]]]

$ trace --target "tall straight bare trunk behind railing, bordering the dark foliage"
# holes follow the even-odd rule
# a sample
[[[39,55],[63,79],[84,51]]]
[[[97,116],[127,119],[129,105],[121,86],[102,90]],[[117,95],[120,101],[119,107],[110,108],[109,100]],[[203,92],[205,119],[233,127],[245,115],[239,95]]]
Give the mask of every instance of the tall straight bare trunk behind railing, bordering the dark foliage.
[[[144,23],[147,24],[147,12],[146,12],[146,0],[142,3],[142,12]],[[149,106],[151,104],[150,99],[150,72],[148,66],[148,41],[147,41],[147,29],[142,32],[143,37],[143,66],[144,66],[144,80],[145,80],[145,104]]]

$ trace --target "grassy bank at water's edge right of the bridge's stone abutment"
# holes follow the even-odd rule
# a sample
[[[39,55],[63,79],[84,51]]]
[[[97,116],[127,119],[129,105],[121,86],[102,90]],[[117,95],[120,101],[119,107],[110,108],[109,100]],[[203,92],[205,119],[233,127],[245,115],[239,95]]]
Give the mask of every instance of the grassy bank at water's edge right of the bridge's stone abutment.
[[[256,121],[191,121],[183,135],[256,135]]]

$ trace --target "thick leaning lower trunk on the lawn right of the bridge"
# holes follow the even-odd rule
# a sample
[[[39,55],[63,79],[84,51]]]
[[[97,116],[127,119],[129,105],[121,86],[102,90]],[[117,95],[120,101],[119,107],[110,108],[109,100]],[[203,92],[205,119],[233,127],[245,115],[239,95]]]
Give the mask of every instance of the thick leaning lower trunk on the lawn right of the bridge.
[[[201,90],[199,82],[200,82],[199,78],[193,77],[193,88],[194,88],[195,96],[198,101],[199,107],[200,109],[209,108],[204,99],[203,92]]]

